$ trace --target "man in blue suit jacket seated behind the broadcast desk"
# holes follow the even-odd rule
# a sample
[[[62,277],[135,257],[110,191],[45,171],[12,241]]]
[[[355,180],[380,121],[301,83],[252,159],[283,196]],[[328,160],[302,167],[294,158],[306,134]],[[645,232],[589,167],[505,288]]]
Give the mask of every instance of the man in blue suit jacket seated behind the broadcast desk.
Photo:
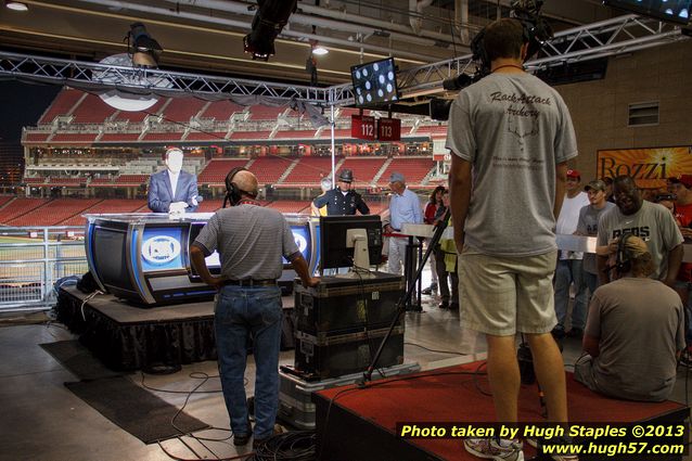
[[[149,208],[154,213],[193,213],[197,209],[197,178],[182,171],[182,151],[166,151],[166,169],[149,181]]]

